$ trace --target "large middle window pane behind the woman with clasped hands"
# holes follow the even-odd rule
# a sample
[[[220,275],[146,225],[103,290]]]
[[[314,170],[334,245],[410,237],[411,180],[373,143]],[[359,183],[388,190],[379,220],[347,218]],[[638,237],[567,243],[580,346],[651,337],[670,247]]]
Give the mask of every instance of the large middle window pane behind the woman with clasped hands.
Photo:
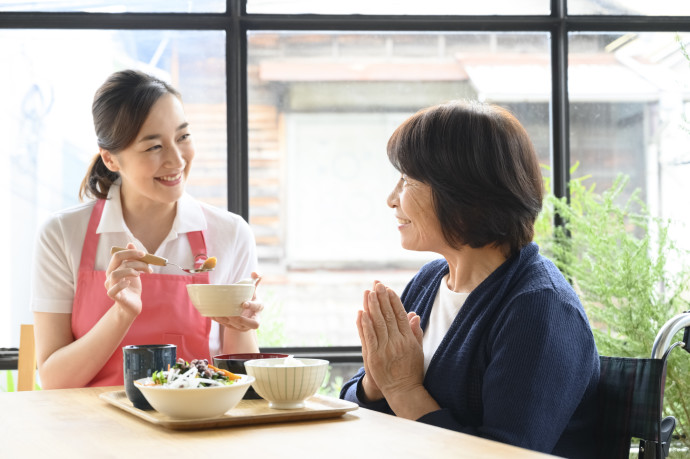
[[[250,224],[266,310],[263,345],[358,345],[362,292],[399,293],[436,254],[400,248],[386,143],[450,99],[514,111],[549,163],[546,34],[252,32]],[[510,75],[510,78],[505,78]]]

